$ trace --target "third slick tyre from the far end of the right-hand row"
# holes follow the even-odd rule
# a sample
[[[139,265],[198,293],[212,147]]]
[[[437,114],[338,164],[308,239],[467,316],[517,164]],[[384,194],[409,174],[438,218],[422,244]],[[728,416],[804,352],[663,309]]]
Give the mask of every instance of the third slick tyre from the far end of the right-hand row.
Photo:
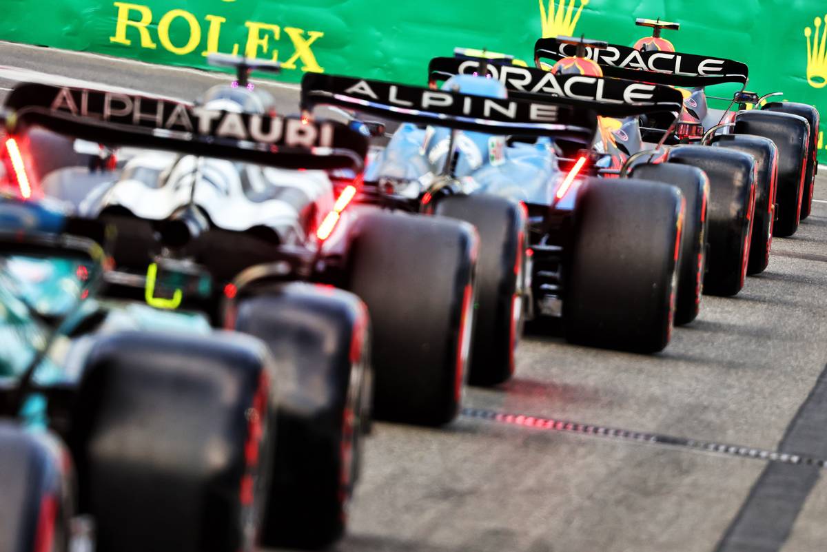
[[[715,136],[712,145],[743,151],[755,158],[755,221],[749,245],[747,274],[760,274],[770,262],[772,226],[775,221],[778,148],[769,138],[747,134]]]

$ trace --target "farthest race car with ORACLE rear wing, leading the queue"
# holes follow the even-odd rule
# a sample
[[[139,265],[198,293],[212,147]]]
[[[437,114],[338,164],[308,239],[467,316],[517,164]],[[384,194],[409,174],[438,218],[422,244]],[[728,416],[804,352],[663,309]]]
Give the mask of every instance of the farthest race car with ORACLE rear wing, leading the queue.
[[[748,82],[748,69],[731,59],[712,58],[700,55],[676,53],[672,43],[663,39],[664,28],[678,29],[677,23],[640,19],[640,26],[654,28],[654,36],[638,40],[634,48],[610,45],[605,51],[595,54],[587,49],[586,57],[593,59],[608,76],[621,79],[633,79],[673,86],[688,87],[685,90],[686,114],[681,120],[681,129],[665,128],[657,121],[648,121],[648,129],[655,133],[667,131],[673,143],[679,140],[701,141],[710,143],[719,136],[719,125],[725,125],[734,135],[763,136],[772,140],[778,148],[777,177],[777,218],[775,232],[778,236],[791,236],[795,233],[801,218],[810,213],[813,184],[818,164],[815,159],[819,134],[819,114],[815,107],[796,102],[766,102],[767,98],[780,93],[770,93],[761,98],[755,93],[743,90]],[[535,45],[535,58],[562,59],[571,55],[571,46],[566,46],[553,39],[540,39]],[[705,88],[718,83],[739,83],[741,90],[733,98],[715,98],[708,96]],[[729,102],[721,111],[710,109],[708,99]],[[738,112],[729,112],[729,108],[739,104]],[[747,110],[748,105],[760,109]],[[784,115],[784,117],[782,117]],[[804,125],[802,117],[807,122]],[[788,139],[792,136],[794,139]],[[726,139],[720,143],[724,147],[738,149],[739,140]],[[748,146],[750,151],[762,149],[753,140]],[[765,152],[766,153],[766,152]],[[763,155],[759,155],[761,157]],[[761,163],[761,160],[759,163]],[[761,187],[763,188],[763,186]],[[759,200],[762,192],[759,191]],[[762,202],[764,203],[764,202]],[[763,212],[762,210],[760,210]],[[762,217],[762,221],[772,217]],[[766,222],[764,223],[766,224]],[[763,225],[762,225],[763,226]],[[762,232],[766,235],[766,231]],[[763,254],[767,248],[760,248]],[[753,269],[760,263],[754,262]]]

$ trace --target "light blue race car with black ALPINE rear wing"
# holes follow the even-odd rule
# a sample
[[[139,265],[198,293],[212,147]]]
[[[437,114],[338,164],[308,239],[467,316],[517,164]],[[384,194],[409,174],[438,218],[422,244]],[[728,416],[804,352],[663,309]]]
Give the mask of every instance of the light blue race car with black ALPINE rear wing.
[[[679,111],[680,98],[668,88],[604,79],[566,77],[555,84],[577,84],[582,96],[509,93],[498,80],[474,74],[450,76],[440,90],[307,74],[302,107],[333,105],[404,121],[372,160],[361,201],[474,221],[480,279],[490,278],[486,267],[499,264],[495,274],[524,271],[529,317],[562,316],[567,337],[577,342],[662,350],[675,307],[681,193],[662,183],[615,184],[582,175],[596,172],[588,152],[597,132],[595,98],[605,97],[603,108],[619,113]],[[665,102],[660,93],[667,94]],[[504,223],[486,220],[477,207],[486,195],[527,206],[524,267],[504,263],[514,259],[497,238]],[[486,264],[488,255],[499,264]]]

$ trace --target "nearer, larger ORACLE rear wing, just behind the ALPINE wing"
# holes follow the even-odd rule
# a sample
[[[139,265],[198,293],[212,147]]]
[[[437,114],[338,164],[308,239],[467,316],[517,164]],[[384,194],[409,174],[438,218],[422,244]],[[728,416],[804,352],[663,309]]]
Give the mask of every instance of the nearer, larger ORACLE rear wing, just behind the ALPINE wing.
[[[606,117],[629,117],[649,112],[681,112],[683,95],[660,84],[601,79],[586,75],[555,75],[543,69],[498,64],[497,60],[473,58],[434,58],[428,64],[428,82],[457,74],[485,74],[498,79],[509,90],[509,98],[551,95],[547,102],[593,109]],[[493,62],[493,63],[492,63]]]

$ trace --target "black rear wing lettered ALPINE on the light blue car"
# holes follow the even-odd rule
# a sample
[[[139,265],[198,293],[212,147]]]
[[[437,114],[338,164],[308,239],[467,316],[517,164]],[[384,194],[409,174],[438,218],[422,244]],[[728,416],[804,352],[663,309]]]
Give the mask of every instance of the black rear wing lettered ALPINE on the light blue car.
[[[533,98],[486,98],[378,80],[308,73],[302,109],[332,105],[396,121],[444,126],[484,134],[554,136],[590,142],[597,116],[591,109]]]

